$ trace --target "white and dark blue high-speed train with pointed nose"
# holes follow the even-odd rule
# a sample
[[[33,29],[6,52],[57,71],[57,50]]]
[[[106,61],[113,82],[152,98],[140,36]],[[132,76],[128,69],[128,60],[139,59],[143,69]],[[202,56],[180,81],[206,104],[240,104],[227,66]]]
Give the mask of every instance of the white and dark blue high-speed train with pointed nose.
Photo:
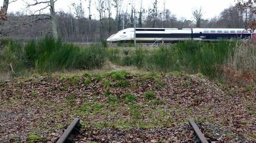
[[[256,32],[250,29],[231,28],[136,28],[136,41],[143,43],[179,42],[184,40],[230,40],[256,38]],[[134,40],[134,28],[120,30],[107,38],[107,42],[129,42]]]

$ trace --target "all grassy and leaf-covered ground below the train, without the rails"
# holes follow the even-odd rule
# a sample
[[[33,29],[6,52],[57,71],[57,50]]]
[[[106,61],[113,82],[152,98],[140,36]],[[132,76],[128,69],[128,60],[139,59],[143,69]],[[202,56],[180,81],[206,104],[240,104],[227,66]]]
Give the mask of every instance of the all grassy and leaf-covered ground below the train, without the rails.
[[[77,142],[112,141],[105,130],[129,134],[120,141],[191,142],[189,118],[213,141],[253,142],[255,49],[239,42],[134,48],[3,40],[0,74],[12,80],[0,82],[0,142],[56,142],[75,117],[82,124]],[[118,68],[90,73],[107,64]]]

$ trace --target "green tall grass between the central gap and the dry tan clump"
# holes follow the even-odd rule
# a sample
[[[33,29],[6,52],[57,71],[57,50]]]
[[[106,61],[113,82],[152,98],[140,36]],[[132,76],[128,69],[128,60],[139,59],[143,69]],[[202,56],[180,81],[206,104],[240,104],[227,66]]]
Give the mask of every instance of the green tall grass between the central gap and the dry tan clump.
[[[123,53],[112,52],[109,55],[111,55],[112,62],[121,65],[134,65],[159,72],[185,71],[192,74],[200,72],[214,78],[221,75],[221,66],[229,54],[234,52],[236,43],[228,41],[215,43],[188,41],[161,45],[159,48],[150,50],[128,48],[123,50]]]

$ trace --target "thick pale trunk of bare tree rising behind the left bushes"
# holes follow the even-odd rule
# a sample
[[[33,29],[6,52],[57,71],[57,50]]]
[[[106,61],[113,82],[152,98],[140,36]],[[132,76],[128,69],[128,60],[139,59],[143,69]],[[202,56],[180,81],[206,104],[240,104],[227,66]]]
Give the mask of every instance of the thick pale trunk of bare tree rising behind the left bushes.
[[[55,1],[50,0],[50,11],[51,11],[51,22],[52,22],[52,34],[53,38],[58,38],[58,30],[57,30],[57,17],[55,13]]]

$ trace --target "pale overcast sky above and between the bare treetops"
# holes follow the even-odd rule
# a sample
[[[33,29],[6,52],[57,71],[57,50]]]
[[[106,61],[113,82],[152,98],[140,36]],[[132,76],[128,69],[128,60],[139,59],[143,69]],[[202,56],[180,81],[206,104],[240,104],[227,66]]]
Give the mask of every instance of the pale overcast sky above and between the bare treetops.
[[[11,1],[11,0],[9,0]],[[9,5],[8,12],[17,12],[22,11],[26,7],[26,3],[23,1],[33,1],[33,0],[18,0],[17,2],[11,3]],[[43,1],[43,0],[38,0]],[[83,0],[85,1],[85,0]],[[88,0],[87,0],[88,1]],[[97,0],[92,0],[97,1]],[[124,0],[123,9],[126,11],[126,8],[130,9],[129,4],[132,0]],[[140,0],[133,0],[135,1],[136,8],[139,9],[140,7]],[[159,0],[159,9],[160,11],[163,10],[163,1]],[[204,19],[210,19],[214,16],[219,16],[220,12],[223,11],[223,9],[228,8],[229,6],[232,6],[235,4],[234,0],[165,0],[166,9],[170,9],[171,13],[175,14],[176,17],[179,18],[186,18],[186,19],[192,19],[192,11],[196,8],[202,8],[203,9],[203,18]],[[3,3],[3,0],[0,0],[1,3]],[[78,3],[78,0],[58,0],[56,2],[56,11],[60,11],[61,9],[65,12],[70,11],[69,7],[71,6],[72,2]],[[95,2],[92,2],[92,5],[95,5]],[[85,7],[86,16],[88,15],[87,12],[87,2],[83,3],[83,6]],[[147,10],[149,7],[152,7],[152,0],[142,0],[142,6]],[[92,6],[92,14],[93,18],[99,18],[97,11],[95,10],[95,6]],[[130,10],[129,10],[130,12]],[[115,16],[115,11],[112,12],[112,16]]]

